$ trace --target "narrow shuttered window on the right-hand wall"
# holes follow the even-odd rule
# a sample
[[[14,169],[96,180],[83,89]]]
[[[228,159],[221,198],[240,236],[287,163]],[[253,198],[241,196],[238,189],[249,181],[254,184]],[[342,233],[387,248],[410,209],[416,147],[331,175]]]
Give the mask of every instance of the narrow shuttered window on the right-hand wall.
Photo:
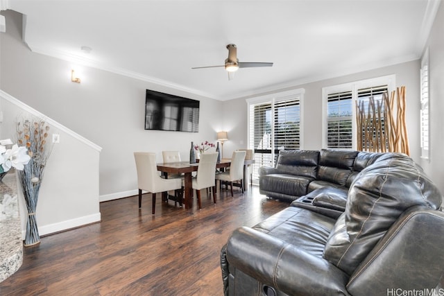
[[[420,110],[420,142],[421,157],[429,159],[429,51],[426,50],[421,60],[421,110]]]

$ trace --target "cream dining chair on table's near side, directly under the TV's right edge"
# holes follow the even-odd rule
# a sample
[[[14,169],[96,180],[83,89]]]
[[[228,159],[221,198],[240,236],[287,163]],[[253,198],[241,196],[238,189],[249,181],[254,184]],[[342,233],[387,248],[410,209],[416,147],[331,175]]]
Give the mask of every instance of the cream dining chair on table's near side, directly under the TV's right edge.
[[[217,155],[219,153],[202,153],[197,168],[197,175],[191,181],[192,188],[196,190],[199,209],[202,209],[200,189],[212,188],[213,202],[216,203],[216,193],[214,191],[216,179],[214,176],[216,175]]]

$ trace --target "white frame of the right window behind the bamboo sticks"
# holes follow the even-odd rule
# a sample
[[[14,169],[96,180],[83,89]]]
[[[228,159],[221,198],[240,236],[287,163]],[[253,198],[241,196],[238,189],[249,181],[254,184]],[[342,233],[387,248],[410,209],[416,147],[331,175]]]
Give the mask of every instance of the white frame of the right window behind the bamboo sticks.
[[[391,92],[395,90],[395,74],[380,76],[376,78],[370,78],[365,80],[358,80],[354,82],[347,82],[341,85],[332,85],[330,87],[323,87],[322,89],[322,147],[327,148],[327,107],[328,94],[335,92],[347,92],[352,91],[352,150],[357,149],[357,123],[356,123],[356,101],[358,96],[358,89],[364,89],[367,87],[375,87],[378,85],[387,85],[388,87],[388,98],[390,98]]]

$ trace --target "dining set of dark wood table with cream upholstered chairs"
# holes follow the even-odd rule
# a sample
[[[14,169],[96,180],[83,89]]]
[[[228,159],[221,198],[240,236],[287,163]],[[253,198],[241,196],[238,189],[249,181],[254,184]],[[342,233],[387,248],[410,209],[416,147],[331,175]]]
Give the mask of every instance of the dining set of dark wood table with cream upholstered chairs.
[[[183,207],[185,204],[185,209],[193,207],[193,199],[196,197],[201,209],[201,191],[204,189],[209,198],[211,194],[214,204],[217,202],[218,184],[219,191],[223,190],[223,184],[227,190],[230,187],[232,197],[233,186],[239,187],[242,194],[248,190],[248,171],[255,163],[253,150],[235,150],[231,158],[222,158],[220,150],[214,150],[213,147],[201,150],[196,159],[190,152],[187,160],[182,160],[179,151],[162,151],[162,162],[156,162],[158,153],[135,152],[139,209],[144,193],[152,195],[154,215],[157,197],[165,202],[173,200],[175,206],[179,204]]]

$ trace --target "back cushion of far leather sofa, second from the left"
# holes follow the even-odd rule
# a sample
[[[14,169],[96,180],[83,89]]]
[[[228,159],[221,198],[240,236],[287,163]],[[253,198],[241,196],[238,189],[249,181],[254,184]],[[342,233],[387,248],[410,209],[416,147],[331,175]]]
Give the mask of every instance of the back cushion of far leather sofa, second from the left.
[[[322,149],[317,179],[345,186],[357,155],[354,150]]]

